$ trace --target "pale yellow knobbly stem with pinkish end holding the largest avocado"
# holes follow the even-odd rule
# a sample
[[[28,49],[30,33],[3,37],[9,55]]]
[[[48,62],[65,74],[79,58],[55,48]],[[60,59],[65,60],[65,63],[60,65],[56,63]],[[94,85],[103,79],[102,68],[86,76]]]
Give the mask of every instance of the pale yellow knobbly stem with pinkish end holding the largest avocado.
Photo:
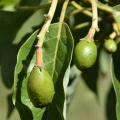
[[[45,15],[46,17],[46,21],[45,24],[43,25],[40,33],[38,34],[38,43],[36,45],[36,65],[39,68],[43,67],[43,58],[42,58],[42,45],[43,45],[43,41],[45,39],[45,35],[49,29],[49,26],[51,24],[51,21],[53,19],[56,7],[57,7],[57,3],[58,0],[52,0],[49,12],[47,15]]]

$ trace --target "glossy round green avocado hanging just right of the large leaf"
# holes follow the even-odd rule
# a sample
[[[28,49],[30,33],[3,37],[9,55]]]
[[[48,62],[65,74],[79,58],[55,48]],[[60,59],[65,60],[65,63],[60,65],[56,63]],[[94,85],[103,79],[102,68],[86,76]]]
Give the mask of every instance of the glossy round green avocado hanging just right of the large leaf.
[[[81,40],[75,47],[75,63],[82,70],[90,68],[97,58],[97,47],[94,41]]]

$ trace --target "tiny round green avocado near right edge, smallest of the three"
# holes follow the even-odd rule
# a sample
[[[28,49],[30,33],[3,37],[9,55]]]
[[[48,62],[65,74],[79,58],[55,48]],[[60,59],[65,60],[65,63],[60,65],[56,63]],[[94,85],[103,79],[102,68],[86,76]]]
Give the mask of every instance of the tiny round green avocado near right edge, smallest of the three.
[[[108,39],[108,40],[105,40],[105,42],[104,42],[104,48],[109,53],[114,53],[117,50],[117,44],[113,39]]]

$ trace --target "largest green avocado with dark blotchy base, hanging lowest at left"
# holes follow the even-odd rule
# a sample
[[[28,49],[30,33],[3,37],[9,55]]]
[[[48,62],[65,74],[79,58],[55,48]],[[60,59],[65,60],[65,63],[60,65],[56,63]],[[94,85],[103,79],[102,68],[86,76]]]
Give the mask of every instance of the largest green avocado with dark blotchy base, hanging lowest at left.
[[[52,102],[54,84],[46,69],[35,66],[30,73],[27,83],[28,95],[35,107],[44,107]]]

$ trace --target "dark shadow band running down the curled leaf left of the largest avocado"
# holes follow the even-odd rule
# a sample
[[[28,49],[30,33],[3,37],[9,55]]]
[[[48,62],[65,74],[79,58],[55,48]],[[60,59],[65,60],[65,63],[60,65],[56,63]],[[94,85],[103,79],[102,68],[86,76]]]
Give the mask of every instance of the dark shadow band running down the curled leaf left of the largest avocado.
[[[33,46],[35,46],[35,43],[33,44]],[[30,61],[33,57],[34,51],[35,51],[35,47],[32,47],[26,60],[22,61],[23,68],[22,68],[21,72],[18,74],[19,81],[17,83],[16,107],[20,113],[20,117],[22,120],[27,120],[27,119],[33,120],[33,115],[32,115],[31,110],[26,105],[24,105],[21,101],[21,97],[22,97],[21,96],[21,92],[22,92],[21,88],[22,88],[22,84],[24,84],[23,80],[27,76],[27,69],[28,69]]]

